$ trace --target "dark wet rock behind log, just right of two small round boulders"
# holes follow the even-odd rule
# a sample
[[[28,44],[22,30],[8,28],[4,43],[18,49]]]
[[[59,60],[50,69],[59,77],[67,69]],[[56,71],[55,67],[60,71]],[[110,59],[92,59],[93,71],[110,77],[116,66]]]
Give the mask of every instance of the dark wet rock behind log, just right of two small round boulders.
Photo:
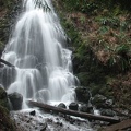
[[[80,107],[80,111],[82,111],[82,112],[88,112],[88,114],[93,114],[94,111],[93,111],[93,106],[91,106],[91,105],[81,105],[81,107]]]

